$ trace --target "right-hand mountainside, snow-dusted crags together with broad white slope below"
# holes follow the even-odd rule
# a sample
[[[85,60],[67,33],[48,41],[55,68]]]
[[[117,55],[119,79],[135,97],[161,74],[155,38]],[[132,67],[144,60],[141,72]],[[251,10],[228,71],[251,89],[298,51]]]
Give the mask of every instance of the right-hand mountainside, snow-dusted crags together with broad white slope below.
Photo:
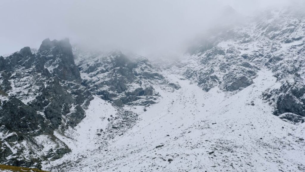
[[[46,169],[304,171],[304,15],[288,9],[251,20],[167,66],[163,76],[181,88],[158,90],[147,111],[125,106],[139,114],[126,133]]]

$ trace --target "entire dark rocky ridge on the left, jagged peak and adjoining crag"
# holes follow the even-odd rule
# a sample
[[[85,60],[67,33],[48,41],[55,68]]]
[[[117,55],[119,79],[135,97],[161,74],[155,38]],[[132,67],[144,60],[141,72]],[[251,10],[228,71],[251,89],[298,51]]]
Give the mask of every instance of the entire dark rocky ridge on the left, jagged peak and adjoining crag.
[[[45,39],[38,50],[24,47],[0,57],[0,163],[41,168],[42,161],[70,152],[54,131],[64,133],[81,122],[93,95],[117,108],[133,102],[149,106],[159,97],[153,80],[171,91],[178,88],[144,58],[133,62],[117,52],[94,66],[94,57],[86,58],[78,54],[75,64],[68,39]]]

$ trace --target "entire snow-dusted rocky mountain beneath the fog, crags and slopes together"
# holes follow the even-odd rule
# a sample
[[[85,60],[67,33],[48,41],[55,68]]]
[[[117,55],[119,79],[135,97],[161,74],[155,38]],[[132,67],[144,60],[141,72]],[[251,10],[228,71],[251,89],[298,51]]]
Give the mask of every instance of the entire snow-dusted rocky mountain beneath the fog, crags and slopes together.
[[[49,171],[305,171],[305,13],[214,29],[180,60],[45,39],[0,57],[0,161]]]

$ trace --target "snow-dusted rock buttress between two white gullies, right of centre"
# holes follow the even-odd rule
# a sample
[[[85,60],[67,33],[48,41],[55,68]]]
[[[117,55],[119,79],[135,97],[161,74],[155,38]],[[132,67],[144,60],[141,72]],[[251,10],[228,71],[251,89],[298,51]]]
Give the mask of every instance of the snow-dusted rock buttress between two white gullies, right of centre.
[[[234,46],[225,49],[217,44],[211,49],[195,51],[190,64],[184,66],[186,78],[198,82],[205,91],[219,86],[225,91],[236,91],[253,84],[259,68],[242,57]]]

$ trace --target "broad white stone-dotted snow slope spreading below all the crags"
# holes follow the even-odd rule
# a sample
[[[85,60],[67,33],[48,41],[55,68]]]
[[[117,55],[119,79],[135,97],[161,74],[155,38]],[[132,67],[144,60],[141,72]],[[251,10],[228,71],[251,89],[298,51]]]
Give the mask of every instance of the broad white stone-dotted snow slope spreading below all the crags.
[[[254,84],[233,93],[218,87],[205,92],[181,76],[164,75],[181,88],[175,92],[157,90],[162,99],[145,112],[140,106],[125,107],[138,113],[139,120],[123,135],[106,140],[107,144],[90,131],[103,129],[106,118],[116,110],[95,97],[86,118],[75,129],[66,136],[56,135],[72,152],[45,164],[44,169],[305,171],[305,143],[299,140],[305,136],[305,123],[282,121],[262,100],[262,92],[275,86],[271,71],[259,71]]]

